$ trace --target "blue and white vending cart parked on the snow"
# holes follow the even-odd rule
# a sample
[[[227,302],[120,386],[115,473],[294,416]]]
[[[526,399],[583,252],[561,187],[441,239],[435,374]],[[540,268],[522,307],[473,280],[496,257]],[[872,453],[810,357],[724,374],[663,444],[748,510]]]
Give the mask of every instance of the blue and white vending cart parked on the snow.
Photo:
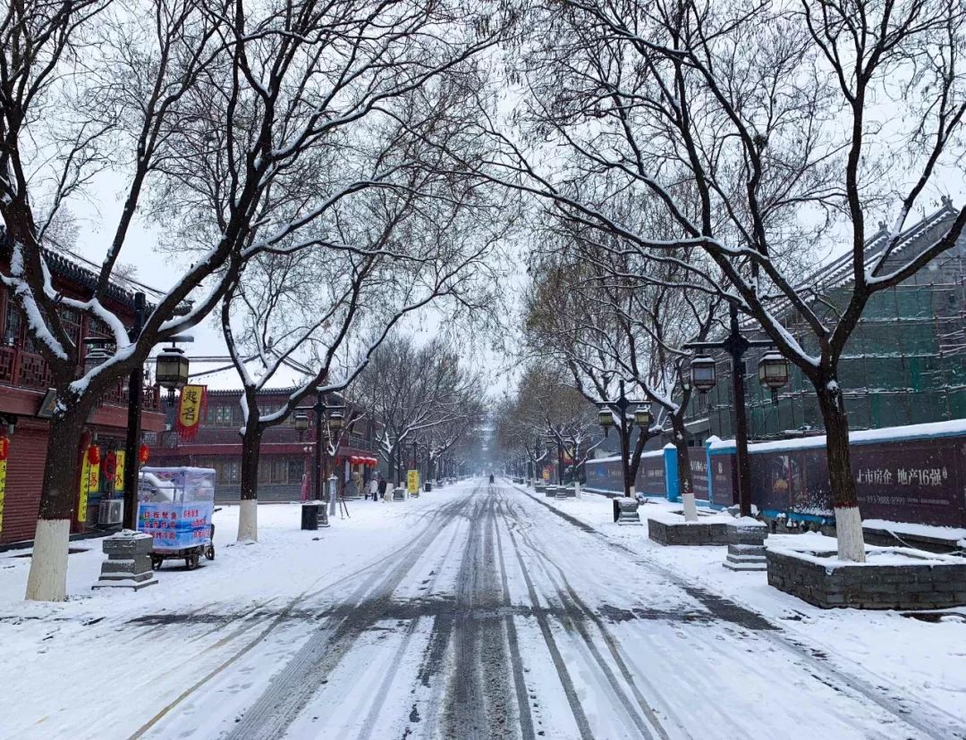
[[[141,468],[137,529],[151,534],[151,563],[184,560],[193,570],[205,556],[214,560],[214,471],[212,468]]]

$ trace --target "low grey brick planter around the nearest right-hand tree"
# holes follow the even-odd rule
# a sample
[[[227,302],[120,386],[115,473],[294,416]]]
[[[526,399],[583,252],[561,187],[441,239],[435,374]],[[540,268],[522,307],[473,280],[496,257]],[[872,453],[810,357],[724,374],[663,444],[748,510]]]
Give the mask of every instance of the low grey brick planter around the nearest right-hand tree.
[[[966,605],[966,561],[904,547],[835,552],[767,550],[768,583],[822,609],[947,609]],[[879,564],[881,563],[881,564]]]

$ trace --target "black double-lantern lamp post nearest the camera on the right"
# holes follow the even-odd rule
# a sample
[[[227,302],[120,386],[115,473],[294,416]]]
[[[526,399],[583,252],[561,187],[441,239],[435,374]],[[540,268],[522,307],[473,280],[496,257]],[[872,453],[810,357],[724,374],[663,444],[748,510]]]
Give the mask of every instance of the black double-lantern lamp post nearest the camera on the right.
[[[771,347],[770,340],[747,340],[738,327],[738,307],[728,306],[730,331],[721,342],[691,342],[685,349],[724,349],[731,356],[731,407],[734,411],[734,444],[738,462],[737,494],[738,509],[742,516],[752,515],[751,480],[752,467],[748,457],[748,412],[745,408],[745,352],[750,347]],[[782,370],[783,369],[783,373]],[[773,398],[788,381],[788,365],[776,351],[766,352],[758,363],[761,384],[772,391]],[[710,357],[695,357],[691,361],[692,385],[702,394],[718,382],[715,361]]]

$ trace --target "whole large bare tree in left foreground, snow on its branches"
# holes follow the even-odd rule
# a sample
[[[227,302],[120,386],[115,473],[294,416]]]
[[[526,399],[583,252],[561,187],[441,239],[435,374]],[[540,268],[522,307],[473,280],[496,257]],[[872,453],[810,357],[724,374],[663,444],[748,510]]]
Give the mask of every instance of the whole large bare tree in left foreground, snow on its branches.
[[[370,122],[405,121],[409,97],[492,44],[475,21],[474,9],[456,13],[447,2],[8,6],[0,19],[0,215],[13,247],[0,278],[58,397],[28,598],[65,598],[73,451],[103,391],[156,343],[212,311],[248,260],[327,242],[333,206],[405,170],[399,161],[361,179],[343,173],[290,197],[333,149],[355,156]],[[66,298],[50,284],[45,233],[108,168],[125,181],[124,207],[97,287],[86,300]],[[133,337],[102,299],[131,249],[131,226],[150,216],[194,253],[178,260],[173,287]],[[188,300],[192,308],[181,312]],[[99,368],[78,372],[81,345],[62,308],[110,328],[116,349]]]

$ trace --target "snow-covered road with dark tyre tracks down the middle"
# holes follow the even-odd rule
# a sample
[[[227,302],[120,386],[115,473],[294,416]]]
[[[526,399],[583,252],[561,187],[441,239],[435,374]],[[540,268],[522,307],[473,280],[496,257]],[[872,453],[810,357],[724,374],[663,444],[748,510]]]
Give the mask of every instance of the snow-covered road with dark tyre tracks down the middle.
[[[244,561],[245,550],[264,548],[222,573],[235,579],[235,593],[213,589],[199,602],[201,582],[193,602],[183,594],[181,605],[152,614],[130,617],[125,606],[92,621],[89,605],[54,615],[64,629],[51,633],[49,651],[21,660],[13,677],[36,709],[8,706],[0,736],[555,740],[956,731],[941,708],[897,701],[895,687],[833,668],[765,618],[515,487],[469,481],[353,511],[352,544],[343,538],[322,560],[292,547],[287,566],[285,547],[233,548],[226,559]],[[386,512],[405,526],[378,526]]]

